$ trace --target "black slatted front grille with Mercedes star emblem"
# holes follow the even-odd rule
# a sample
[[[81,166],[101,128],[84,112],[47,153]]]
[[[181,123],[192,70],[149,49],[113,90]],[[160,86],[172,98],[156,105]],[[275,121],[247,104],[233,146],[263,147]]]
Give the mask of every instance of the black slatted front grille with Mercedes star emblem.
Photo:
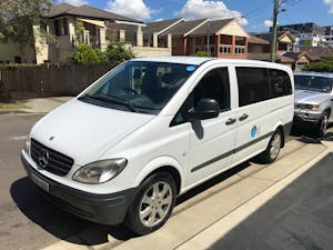
[[[46,166],[40,164],[40,157],[43,152],[48,152],[49,159]],[[70,157],[67,157],[60,152],[57,152],[37,140],[31,139],[31,158],[42,169],[54,173],[57,176],[64,177],[72,168],[74,161]]]

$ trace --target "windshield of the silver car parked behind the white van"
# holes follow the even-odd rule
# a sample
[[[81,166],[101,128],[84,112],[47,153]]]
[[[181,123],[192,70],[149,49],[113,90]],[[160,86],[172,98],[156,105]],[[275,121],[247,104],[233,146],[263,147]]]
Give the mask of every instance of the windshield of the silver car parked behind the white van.
[[[313,76],[295,76],[295,88],[329,93],[332,91],[333,79]]]

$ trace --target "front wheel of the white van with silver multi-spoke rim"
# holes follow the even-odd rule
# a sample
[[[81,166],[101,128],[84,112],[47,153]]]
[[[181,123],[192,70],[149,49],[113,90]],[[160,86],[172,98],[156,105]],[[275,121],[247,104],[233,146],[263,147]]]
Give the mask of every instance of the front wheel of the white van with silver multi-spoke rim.
[[[168,172],[153,173],[140,184],[124,226],[139,236],[158,230],[169,219],[175,197],[176,188],[172,176]]]

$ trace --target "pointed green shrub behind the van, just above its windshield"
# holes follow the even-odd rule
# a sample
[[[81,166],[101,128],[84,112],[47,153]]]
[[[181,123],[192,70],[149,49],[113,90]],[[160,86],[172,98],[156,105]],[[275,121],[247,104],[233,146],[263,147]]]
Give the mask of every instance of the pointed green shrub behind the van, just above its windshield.
[[[130,49],[125,48],[123,41],[118,41],[114,38],[109,40],[109,46],[104,52],[101,53],[102,62],[111,66],[118,66],[123,61],[130,60],[135,56]]]

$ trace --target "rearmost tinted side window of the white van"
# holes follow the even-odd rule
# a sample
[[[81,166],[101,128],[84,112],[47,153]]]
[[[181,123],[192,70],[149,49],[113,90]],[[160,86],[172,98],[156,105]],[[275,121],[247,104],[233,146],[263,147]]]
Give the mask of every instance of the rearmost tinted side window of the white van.
[[[291,80],[285,71],[270,69],[272,98],[284,97],[293,93]]]

